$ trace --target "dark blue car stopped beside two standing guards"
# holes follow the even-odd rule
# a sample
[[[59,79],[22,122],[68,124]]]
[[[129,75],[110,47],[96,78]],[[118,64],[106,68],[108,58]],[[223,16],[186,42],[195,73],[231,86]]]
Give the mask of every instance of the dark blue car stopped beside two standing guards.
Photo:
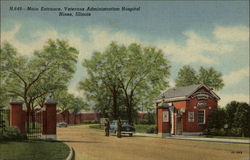
[[[127,120],[121,120],[122,131],[121,134],[128,134],[130,137],[135,133],[135,128],[131,126]],[[113,120],[110,123],[110,132],[117,133],[117,120]]]

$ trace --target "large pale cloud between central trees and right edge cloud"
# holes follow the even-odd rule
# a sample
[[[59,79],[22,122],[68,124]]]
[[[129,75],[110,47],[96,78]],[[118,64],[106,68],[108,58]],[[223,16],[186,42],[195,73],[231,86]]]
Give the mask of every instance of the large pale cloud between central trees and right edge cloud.
[[[184,45],[174,41],[161,44],[164,52],[173,56],[175,61],[184,64],[201,62],[206,64],[217,64],[216,54],[223,54],[233,50],[232,45],[218,43],[199,36],[194,31],[183,33],[186,37]]]

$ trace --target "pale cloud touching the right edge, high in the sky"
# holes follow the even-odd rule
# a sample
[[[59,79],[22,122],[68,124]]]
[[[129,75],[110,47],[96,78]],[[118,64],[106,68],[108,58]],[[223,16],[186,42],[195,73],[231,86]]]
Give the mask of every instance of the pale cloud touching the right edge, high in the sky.
[[[248,41],[249,27],[246,26],[216,26],[213,32],[218,40],[223,41]]]

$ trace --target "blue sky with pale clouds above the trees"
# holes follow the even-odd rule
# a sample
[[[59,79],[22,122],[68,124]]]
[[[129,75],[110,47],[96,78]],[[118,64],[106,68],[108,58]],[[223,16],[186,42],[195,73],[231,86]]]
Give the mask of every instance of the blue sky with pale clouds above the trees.
[[[40,11],[41,7],[139,10],[59,16],[58,11]],[[219,105],[232,100],[249,103],[249,1],[1,1],[0,26],[1,43],[10,42],[21,55],[32,56],[48,39],[64,39],[77,48],[77,70],[69,84],[69,92],[75,95],[84,94],[78,90],[78,82],[86,78],[83,60],[116,41],[161,49],[171,63],[171,87],[183,65],[196,70],[214,67],[225,82],[216,92]]]

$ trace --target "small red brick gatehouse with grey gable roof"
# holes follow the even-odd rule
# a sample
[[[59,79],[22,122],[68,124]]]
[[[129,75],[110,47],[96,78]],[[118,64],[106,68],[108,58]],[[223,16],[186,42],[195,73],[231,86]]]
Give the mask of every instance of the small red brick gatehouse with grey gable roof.
[[[199,135],[220,97],[203,84],[168,89],[156,100],[158,133]]]

